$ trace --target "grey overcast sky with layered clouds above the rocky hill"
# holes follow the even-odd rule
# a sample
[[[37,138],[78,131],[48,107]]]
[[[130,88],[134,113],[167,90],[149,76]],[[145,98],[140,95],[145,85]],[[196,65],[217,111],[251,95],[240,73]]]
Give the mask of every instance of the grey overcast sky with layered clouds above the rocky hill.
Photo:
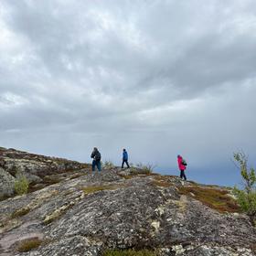
[[[0,1],[2,146],[233,185],[255,96],[255,0]]]

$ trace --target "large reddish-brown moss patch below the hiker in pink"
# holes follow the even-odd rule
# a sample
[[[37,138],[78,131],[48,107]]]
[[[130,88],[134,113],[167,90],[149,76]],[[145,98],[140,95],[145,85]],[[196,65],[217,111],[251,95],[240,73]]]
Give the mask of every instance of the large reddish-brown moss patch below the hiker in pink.
[[[229,197],[228,190],[220,190],[208,187],[178,187],[179,193],[194,197],[210,208],[219,212],[240,212],[236,201]]]

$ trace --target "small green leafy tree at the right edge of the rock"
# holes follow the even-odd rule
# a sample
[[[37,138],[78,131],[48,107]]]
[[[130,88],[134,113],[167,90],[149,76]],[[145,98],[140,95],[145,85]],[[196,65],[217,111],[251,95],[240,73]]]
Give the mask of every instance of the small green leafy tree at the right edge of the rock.
[[[243,181],[242,189],[234,187],[233,192],[243,212],[251,219],[251,224],[256,225],[256,175],[254,168],[248,168],[248,157],[240,152],[234,154],[235,162],[240,167]]]

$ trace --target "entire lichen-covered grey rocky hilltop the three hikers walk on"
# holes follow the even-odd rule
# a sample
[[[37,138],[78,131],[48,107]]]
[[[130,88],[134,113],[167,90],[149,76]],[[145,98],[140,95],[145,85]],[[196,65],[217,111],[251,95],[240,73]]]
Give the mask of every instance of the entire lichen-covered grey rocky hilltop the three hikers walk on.
[[[30,186],[14,197],[17,172]],[[3,256],[256,253],[256,230],[227,187],[139,168],[92,176],[90,165],[4,148],[0,174]]]

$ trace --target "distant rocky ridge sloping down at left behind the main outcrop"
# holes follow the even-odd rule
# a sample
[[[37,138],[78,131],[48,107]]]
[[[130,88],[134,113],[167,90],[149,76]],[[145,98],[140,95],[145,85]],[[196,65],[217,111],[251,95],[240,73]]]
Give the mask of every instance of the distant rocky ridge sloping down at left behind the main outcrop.
[[[28,154],[0,147],[0,199],[14,195],[14,182],[26,176],[30,187],[54,183],[48,176],[80,170],[85,165],[63,158]]]

